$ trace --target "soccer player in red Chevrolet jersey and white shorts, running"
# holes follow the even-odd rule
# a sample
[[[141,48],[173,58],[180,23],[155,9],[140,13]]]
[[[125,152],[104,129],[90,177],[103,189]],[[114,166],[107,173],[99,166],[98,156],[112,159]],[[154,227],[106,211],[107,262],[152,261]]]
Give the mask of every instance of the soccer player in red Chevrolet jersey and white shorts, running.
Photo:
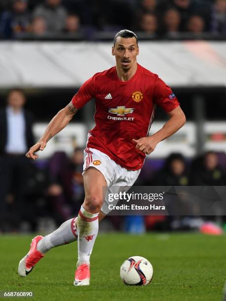
[[[137,63],[138,54],[136,34],[130,30],[119,31],[112,47],[116,66],[88,79],[26,154],[35,160],[36,151],[43,151],[74,114],[96,98],[96,126],[88,134],[84,151],[84,203],[78,217],[65,221],[53,233],[32,240],[30,251],[19,263],[20,276],[30,273],[51,248],[78,240],[74,285],[89,285],[90,255],[97,238],[98,221],[108,213],[102,207],[103,187],[131,186],[146,154],[184,125],[185,115],[176,96],[157,74]],[[156,105],[168,113],[169,120],[158,132],[148,136]]]

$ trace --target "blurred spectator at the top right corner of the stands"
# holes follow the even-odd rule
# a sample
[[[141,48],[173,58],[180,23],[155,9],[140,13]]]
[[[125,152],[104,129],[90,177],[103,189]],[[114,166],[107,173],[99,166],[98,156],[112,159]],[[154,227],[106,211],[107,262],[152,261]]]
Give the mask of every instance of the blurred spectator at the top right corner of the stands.
[[[226,35],[226,0],[215,1],[210,19],[210,31]]]

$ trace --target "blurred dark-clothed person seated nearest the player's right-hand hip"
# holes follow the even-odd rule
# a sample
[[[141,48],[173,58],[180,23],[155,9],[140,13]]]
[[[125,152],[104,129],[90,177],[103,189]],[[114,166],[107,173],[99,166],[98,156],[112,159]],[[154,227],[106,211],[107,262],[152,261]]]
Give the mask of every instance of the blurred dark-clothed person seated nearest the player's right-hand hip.
[[[172,153],[165,161],[163,169],[153,177],[153,185],[180,186],[188,185],[189,174],[184,157],[180,153]]]

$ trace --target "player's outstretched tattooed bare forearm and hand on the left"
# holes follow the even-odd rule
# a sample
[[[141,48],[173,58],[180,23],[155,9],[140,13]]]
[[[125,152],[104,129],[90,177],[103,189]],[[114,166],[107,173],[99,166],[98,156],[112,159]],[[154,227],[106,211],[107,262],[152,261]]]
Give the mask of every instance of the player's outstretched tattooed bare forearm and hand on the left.
[[[78,110],[73,106],[72,102],[70,102],[64,109],[59,111],[57,115],[54,116],[54,118],[49,122],[42,137],[35,145],[31,147],[26,156],[35,160],[38,157],[35,152],[43,151],[47,142],[63,128],[65,128],[77,111]]]

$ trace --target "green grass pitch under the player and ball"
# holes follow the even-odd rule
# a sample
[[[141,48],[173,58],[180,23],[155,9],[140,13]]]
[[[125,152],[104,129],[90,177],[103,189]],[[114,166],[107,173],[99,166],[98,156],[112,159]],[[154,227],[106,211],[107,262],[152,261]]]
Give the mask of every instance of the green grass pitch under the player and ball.
[[[0,236],[0,291],[34,293],[37,301],[222,301],[226,281],[226,236],[201,234],[98,235],[91,285],[74,287],[77,242],[50,250],[25,278],[17,275],[31,236]],[[146,287],[126,286],[119,269],[130,256],[146,257],[154,276]],[[10,298],[6,298],[7,300]],[[3,300],[3,299],[2,299]]]

